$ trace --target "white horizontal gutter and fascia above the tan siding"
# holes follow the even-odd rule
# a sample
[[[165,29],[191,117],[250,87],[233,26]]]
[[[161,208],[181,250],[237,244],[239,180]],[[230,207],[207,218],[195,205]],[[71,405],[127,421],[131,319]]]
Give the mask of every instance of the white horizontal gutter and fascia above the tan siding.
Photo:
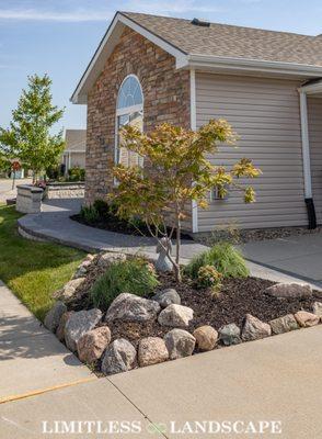
[[[304,64],[269,61],[262,59],[243,59],[225,56],[204,56],[189,55],[188,65],[194,68],[203,69],[233,69],[239,71],[252,71],[262,74],[289,75],[306,78],[322,77],[322,66],[311,66]]]

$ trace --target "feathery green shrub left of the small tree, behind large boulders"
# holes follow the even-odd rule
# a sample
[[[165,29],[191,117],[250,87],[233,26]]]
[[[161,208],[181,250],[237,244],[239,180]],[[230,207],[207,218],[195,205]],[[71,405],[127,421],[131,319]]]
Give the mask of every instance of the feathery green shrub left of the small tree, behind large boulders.
[[[147,296],[159,285],[154,269],[143,259],[135,258],[113,263],[90,290],[95,307],[106,311],[122,293]]]

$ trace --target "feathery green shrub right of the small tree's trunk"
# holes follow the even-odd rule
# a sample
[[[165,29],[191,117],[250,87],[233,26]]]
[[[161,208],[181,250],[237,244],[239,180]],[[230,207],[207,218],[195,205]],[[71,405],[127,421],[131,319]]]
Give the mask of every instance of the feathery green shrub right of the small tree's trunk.
[[[241,251],[229,243],[218,243],[209,250],[196,256],[184,271],[189,278],[197,279],[199,268],[205,266],[214,266],[223,278],[246,278],[249,275],[249,269]]]

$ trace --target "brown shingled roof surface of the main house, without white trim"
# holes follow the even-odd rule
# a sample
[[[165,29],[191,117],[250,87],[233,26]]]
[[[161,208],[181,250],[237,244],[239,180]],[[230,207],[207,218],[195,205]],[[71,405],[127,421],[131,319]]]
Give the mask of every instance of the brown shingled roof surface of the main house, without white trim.
[[[192,24],[191,20],[120,13],[187,55],[322,66],[321,35],[299,35],[219,23],[204,27]]]

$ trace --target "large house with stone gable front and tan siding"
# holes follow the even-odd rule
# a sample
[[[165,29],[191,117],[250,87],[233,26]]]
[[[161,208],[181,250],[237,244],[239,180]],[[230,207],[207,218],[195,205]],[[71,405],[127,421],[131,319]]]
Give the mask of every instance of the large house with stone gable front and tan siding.
[[[322,36],[117,12],[73,94],[88,105],[85,200],[104,198],[111,164],[130,162],[118,127],[136,120],[199,127],[223,117],[240,136],[214,162],[250,157],[263,176],[256,203],[231,192],[188,209],[186,228],[209,232],[322,223]]]

